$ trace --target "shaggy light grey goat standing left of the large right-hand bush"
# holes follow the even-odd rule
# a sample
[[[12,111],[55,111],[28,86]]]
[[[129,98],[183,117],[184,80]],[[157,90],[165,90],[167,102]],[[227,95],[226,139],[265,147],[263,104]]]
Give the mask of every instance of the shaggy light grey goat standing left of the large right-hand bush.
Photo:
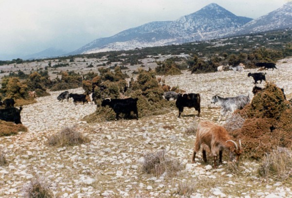
[[[211,103],[218,102],[221,106],[221,115],[225,115],[228,111],[231,113],[237,109],[242,109],[245,105],[249,104],[251,99],[249,96],[237,96],[230,98],[222,98],[217,95],[213,96],[211,99]]]

